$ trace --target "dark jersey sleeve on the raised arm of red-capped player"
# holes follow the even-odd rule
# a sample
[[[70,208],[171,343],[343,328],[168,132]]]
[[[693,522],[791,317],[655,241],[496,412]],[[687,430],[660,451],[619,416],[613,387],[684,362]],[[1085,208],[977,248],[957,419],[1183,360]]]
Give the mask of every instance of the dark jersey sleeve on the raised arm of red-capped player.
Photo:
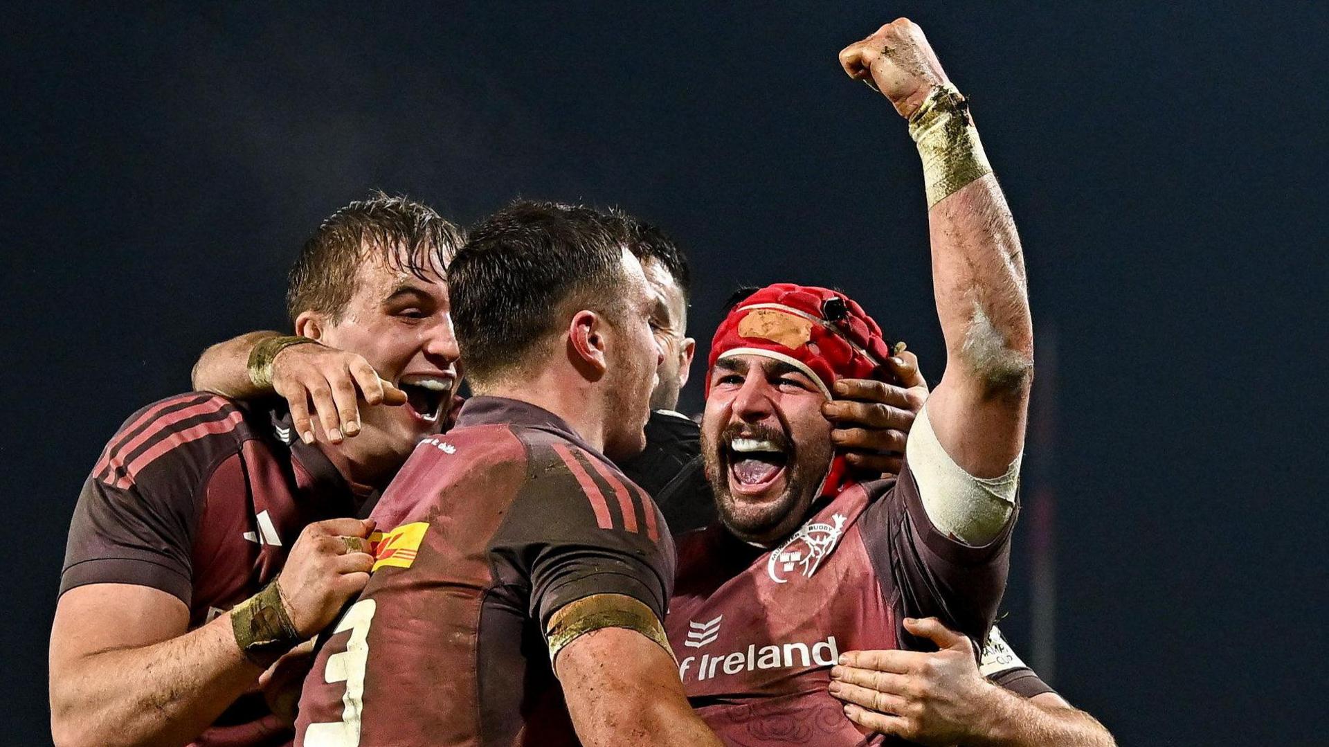
[[[906,647],[930,649],[904,629],[905,617],[936,617],[971,641],[986,639],[1006,590],[1014,517],[981,546],[941,532],[928,518],[905,457],[894,486],[868,508],[864,520],[873,566],[892,580],[896,630]]]

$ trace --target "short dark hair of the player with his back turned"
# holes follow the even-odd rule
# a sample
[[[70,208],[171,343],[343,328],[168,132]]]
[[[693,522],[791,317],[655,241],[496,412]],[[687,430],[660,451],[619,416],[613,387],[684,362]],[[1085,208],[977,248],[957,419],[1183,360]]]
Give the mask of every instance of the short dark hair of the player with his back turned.
[[[518,199],[470,231],[448,267],[452,322],[476,383],[528,363],[577,304],[625,308],[621,219],[586,207]]]

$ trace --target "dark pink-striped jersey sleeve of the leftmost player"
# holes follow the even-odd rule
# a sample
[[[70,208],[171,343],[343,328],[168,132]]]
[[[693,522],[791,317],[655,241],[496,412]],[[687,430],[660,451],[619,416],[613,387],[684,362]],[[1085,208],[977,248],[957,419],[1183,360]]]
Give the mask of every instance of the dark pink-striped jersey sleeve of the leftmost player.
[[[126,420],[78,496],[60,593],[133,584],[189,605],[202,486],[217,448],[226,445],[201,441],[239,420],[227,400],[203,393],[162,400]]]

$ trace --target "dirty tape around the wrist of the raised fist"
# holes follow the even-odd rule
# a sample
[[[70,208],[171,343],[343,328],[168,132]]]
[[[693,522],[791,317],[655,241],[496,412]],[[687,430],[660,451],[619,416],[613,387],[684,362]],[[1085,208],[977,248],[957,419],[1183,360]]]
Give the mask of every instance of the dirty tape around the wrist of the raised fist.
[[[929,210],[969,182],[993,171],[978,141],[969,100],[949,82],[933,86],[909,117],[909,137],[922,157]]]

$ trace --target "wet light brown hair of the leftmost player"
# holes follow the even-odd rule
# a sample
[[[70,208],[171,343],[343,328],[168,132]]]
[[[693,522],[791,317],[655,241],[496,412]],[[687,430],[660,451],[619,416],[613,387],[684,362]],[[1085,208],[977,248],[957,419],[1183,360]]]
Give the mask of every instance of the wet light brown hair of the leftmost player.
[[[389,267],[428,280],[447,267],[465,234],[433,209],[405,197],[369,194],[330,215],[304,242],[286,284],[291,322],[302,311],[336,320],[355,294],[356,271],[371,253]]]

